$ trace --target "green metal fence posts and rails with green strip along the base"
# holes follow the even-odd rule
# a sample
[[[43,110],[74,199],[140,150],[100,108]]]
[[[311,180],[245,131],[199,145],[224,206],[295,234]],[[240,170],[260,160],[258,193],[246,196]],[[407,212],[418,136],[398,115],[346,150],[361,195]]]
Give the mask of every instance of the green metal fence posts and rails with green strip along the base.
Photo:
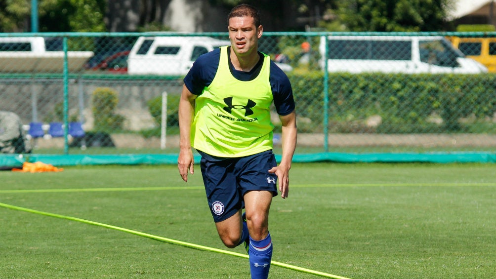
[[[69,143],[67,140],[67,133],[68,133],[68,88],[69,88],[69,80],[74,77],[74,74],[71,74],[68,70],[68,58],[67,58],[67,52],[68,52],[68,45],[67,45],[67,40],[72,37],[97,37],[97,36],[105,36],[105,37],[124,37],[124,36],[143,36],[143,35],[153,35],[153,36],[226,36],[227,33],[175,33],[175,32],[153,32],[153,33],[0,33],[0,38],[2,37],[35,37],[35,36],[41,36],[41,37],[62,37],[63,38],[63,52],[64,52],[64,58],[63,58],[63,71],[62,73],[59,74],[52,74],[50,76],[56,76],[62,78],[63,82],[63,122],[65,124],[64,128],[64,148],[63,148],[63,154],[65,156],[69,156]],[[381,32],[265,32],[264,36],[309,36],[309,37],[316,37],[316,36],[333,36],[333,35],[354,35],[354,36],[370,36],[370,35],[395,35],[395,36],[433,36],[433,35],[440,35],[440,36],[459,36],[459,37],[468,37],[468,36],[484,36],[484,37],[496,37],[496,32],[417,32],[417,33],[404,33],[404,32],[397,32],[397,33],[381,33]],[[327,49],[327,44],[326,44],[326,49]],[[327,54],[327,51],[325,52]],[[429,158],[429,154],[423,154],[422,157],[419,157],[418,154],[382,154],[382,155],[377,155],[377,154],[346,154],[346,153],[329,153],[329,148],[328,148],[328,110],[327,108],[329,107],[329,87],[328,87],[328,81],[329,81],[329,73],[327,70],[327,59],[324,57],[325,61],[325,69],[323,73],[323,112],[322,114],[324,115],[323,117],[323,123],[322,126],[323,128],[323,142],[324,142],[324,153],[318,153],[318,154],[310,154],[309,155],[301,155],[297,154],[295,155],[296,161],[301,161],[301,162],[315,162],[315,161],[337,161],[337,162],[492,162],[495,163],[495,153],[493,152],[469,152],[469,153],[458,153],[460,156],[456,156],[456,154],[453,154],[452,152],[447,152],[445,153],[445,157],[440,159],[440,156],[443,156],[443,153],[436,153],[432,156],[432,158]],[[32,77],[32,75],[27,75],[27,74],[18,74],[18,75],[9,75],[10,78],[27,78],[28,76]],[[124,78],[124,77],[123,77]],[[140,78],[146,78],[146,77],[129,77],[126,76],[125,78],[127,79],[140,79]],[[344,156],[341,156],[344,155]],[[85,165],[85,164],[99,164],[95,163],[98,162],[99,160],[101,161],[101,156],[106,156],[106,155],[100,155],[100,156],[94,156],[95,160],[88,159],[88,156],[84,156],[86,158],[86,163],[82,162],[80,160],[76,160],[76,157],[72,157],[70,160],[73,162],[77,162],[78,165]],[[147,155],[148,156],[148,155]],[[102,162],[102,164],[119,164],[119,162],[122,162],[123,164],[131,163],[131,164],[154,164],[154,163],[171,163],[175,161],[175,157],[177,155],[173,155],[172,159],[171,157],[163,157],[163,156],[157,156],[155,159],[140,159],[137,160],[136,162],[129,161],[129,158],[122,158],[119,156],[115,155],[109,155],[108,158],[109,160],[106,162]],[[59,156],[60,157],[60,156]],[[59,158],[57,157],[57,158]],[[70,157],[70,156],[69,156]],[[27,156],[27,158],[30,158],[28,160],[43,160],[43,161],[49,161],[52,163],[55,163],[55,165],[70,165],[69,161],[67,159],[69,157],[60,157],[58,160],[54,160],[50,156],[37,156],[37,155],[31,155]],[[91,157],[91,156],[90,156]],[[146,156],[145,156],[146,157]],[[99,159],[98,159],[99,158]],[[120,159],[119,159],[120,158]],[[159,158],[159,159],[157,159]],[[446,159],[448,158],[448,159]],[[119,159],[119,160],[117,160]],[[4,161],[3,163],[1,161]],[[2,160],[0,160],[0,165],[18,165],[19,162],[22,160],[26,160],[26,157],[19,157],[19,156],[3,156]],[[57,162],[62,162],[61,164],[58,164]],[[127,163],[126,163],[127,162]]]

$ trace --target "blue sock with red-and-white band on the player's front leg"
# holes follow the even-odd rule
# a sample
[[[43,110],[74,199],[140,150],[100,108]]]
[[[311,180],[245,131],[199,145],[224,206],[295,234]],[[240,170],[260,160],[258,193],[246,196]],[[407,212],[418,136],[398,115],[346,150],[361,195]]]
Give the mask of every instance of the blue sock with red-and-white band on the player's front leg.
[[[249,238],[249,268],[251,279],[266,279],[269,276],[272,258],[272,238],[270,233],[260,241]]]

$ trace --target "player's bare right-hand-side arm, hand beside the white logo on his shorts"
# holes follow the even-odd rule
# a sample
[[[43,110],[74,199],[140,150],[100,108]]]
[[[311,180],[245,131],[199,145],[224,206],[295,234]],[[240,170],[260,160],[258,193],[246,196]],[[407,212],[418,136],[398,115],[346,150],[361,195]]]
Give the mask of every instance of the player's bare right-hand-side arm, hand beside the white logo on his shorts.
[[[281,191],[281,197],[285,199],[289,194],[289,169],[296,149],[296,112],[280,116],[280,119],[282,122],[282,159],[279,166],[273,167],[269,172],[277,175],[279,191]]]

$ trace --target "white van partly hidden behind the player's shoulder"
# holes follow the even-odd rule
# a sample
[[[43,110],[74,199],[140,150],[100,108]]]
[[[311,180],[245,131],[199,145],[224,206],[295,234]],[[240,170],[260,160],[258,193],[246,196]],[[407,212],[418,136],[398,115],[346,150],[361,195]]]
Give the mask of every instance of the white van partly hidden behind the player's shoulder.
[[[230,41],[210,37],[139,37],[127,58],[127,73],[186,75],[200,55],[230,45]],[[293,69],[276,64],[284,71]]]

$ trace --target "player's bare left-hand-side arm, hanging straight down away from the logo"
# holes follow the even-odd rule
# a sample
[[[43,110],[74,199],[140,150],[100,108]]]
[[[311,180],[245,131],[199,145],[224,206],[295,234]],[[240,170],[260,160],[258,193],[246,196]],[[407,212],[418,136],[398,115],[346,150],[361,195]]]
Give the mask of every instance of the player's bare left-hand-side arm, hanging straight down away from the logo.
[[[193,174],[193,152],[191,150],[191,122],[193,121],[194,104],[197,96],[192,94],[183,85],[183,92],[179,101],[179,134],[180,134],[180,152],[178,158],[179,174],[185,182],[187,182],[187,173]]]

